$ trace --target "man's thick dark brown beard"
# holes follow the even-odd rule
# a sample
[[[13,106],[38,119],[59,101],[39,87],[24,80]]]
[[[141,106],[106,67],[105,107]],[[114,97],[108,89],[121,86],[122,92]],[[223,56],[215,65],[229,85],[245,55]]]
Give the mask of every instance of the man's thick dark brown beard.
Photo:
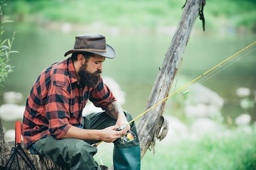
[[[101,70],[97,70],[94,73],[90,73],[87,71],[87,64],[82,65],[79,69],[78,75],[81,78],[81,84],[87,85],[89,87],[96,87],[99,84],[99,80],[101,79]]]

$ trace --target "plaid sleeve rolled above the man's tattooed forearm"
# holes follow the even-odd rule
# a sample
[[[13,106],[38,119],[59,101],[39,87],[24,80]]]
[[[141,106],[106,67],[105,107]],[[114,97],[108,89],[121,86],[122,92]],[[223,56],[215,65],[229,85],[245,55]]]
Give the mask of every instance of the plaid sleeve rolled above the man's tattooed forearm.
[[[94,104],[94,106],[101,107],[102,110],[105,110],[108,105],[117,99],[108,86],[103,83],[101,77],[99,85],[95,89],[92,89],[89,100]]]

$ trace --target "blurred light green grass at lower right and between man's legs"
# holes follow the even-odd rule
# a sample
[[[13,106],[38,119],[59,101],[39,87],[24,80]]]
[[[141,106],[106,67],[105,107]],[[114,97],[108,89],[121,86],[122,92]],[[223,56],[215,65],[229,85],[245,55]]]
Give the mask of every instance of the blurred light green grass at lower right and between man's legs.
[[[111,166],[112,144],[99,145],[94,158]],[[141,160],[141,169],[256,170],[256,132],[236,129],[222,135],[205,135],[197,140],[157,141],[155,155],[148,150]]]

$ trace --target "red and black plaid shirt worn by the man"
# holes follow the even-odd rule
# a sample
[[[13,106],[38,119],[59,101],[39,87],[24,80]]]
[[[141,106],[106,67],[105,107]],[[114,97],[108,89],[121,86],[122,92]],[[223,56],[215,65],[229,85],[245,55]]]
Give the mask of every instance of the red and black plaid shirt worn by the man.
[[[96,88],[83,88],[71,58],[46,68],[27,98],[21,123],[25,146],[47,136],[59,139],[72,125],[79,126],[88,100],[105,110],[116,99],[102,78]]]

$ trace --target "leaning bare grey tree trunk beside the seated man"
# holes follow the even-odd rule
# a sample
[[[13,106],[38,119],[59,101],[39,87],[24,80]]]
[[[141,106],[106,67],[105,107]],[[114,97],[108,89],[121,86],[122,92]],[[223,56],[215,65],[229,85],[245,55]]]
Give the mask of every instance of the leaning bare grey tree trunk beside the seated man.
[[[180,23],[177,26],[171,45],[168,48],[166,57],[154,83],[145,111],[168,96],[201,6],[202,0],[187,0]],[[165,104],[166,100],[145,113],[137,125],[137,131],[141,141],[141,159],[150,145],[153,144],[154,146],[155,138],[158,135],[156,126],[159,122],[159,117],[162,116]]]

